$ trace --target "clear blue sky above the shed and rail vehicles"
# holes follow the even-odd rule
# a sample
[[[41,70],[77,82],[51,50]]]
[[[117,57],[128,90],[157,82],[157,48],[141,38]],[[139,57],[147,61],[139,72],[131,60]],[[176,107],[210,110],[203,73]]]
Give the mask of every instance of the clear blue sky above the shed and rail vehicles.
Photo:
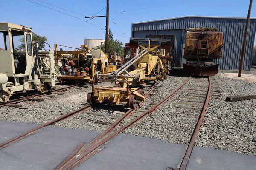
[[[89,21],[98,27],[84,22],[88,20],[84,16],[92,16],[105,8],[105,0],[31,1],[72,15],[73,17],[39,6],[28,0],[3,0],[1,6],[4,8],[1,8],[0,11],[0,22],[32,27],[33,32],[47,37],[47,42],[52,48],[54,43],[80,47],[84,43],[83,39],[85,37],[88,39],[105,39],[105,17],[94,18]],[[129,37],[131,37],[131,23],[186,15],[247,17],[249,2],[250,0],[110,0],[109,27],[114,31],[114,39],[126,43],[129,41]],[[148,8],[154,6],[160,7]],[[148,9],[131,11],[141,8]],[[127,12],[121,13],[121,11]],[[105,9],[97,15],[105,15]],[[251,17],[256,17],[256,2],[253,4]],[[112,20],[114,20],[119,28]]]

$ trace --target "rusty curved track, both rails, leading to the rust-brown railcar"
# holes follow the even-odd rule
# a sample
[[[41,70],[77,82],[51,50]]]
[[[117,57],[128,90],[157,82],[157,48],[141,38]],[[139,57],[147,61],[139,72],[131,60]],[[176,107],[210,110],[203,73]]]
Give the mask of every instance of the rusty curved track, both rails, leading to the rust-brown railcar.
[[[190,78],[189,78],[190,79]],[[184,85],[186,85],[187,82],[189,82],[189,79],[186,80],[186,82],[183,83],[177,90],[175,90],[172,94],[170,94],[168,97],[165,99],[161,100],[159,103],[148,109],[147,111],[141,113],[141,111],[135,111],[133,110],[132,112],[135,112],[134,115],[136,115],[136,118],[132,119],[130,122],[127,122],[125,125],[122,127],[116,128],[117,125],[120,124],[120,122],[124,121],[125,118],[127,118],[131,113],[128,111],[127,115],[124,114],[119,120],[117,120],[114,124],[112,124],[105,132],[103,132],[100,136],[98,136],[96,139],[93,140],[89,145],[87,145],[84,149],[81,150],[81,148],[84,146],[83,143],[81,143],[74,151],[71,153],[67,158],[62,161],[60,164],[58,164],[54,170],[73,170],[76,167],[78,167],[80,164],[82,164],[84,161],[89,159],[91,156],[95,155],[98,153],[100,150],[103,149],[102,145],[105,144],[108,140],[112,139],[114,136],[119,134],[120,132],[124,131],[126,128],[133,126],[135,123],[141,121],[144,119],[146,116],[157,110],[163,103],[167,102],[169,99],[175,96],[175,98],[180,98],[181,99],[187,99],[186,102],[175,102],[175,107],[177,108],[183,108],[185,110],[187,109],[195,109],[195,110],[201,110],[201,113],[198,115],[198,121],[195,125],[195,130],[192,133],[191,140],[189,142],[188,148],[186,150],[185,156],[183,158],[183,161],[181,162],[180,165],[180,170],[185,170],[186,166],[189,161],[190,154],[192,152],[192,148],[195,143],[196,136],[198,134],[199,128],[202,124],[203,117],[205,114],[205,110],[207,108],[208,102],[209,102],[209,96],[210,96],[210,91],[211,91],[211,82],[210,79],[208,78],[209,85],[206,86],[205,79],[193,79],[195,81],[192,82],[194,85],[194,89],[182,89]],[[202,87],[203,86],[203,87]],[[189,86],[191,87],[191,86]],[[195,93],[195,91],[203,91],[203,93]],[[199,94],[199,95],[198,95]],[[201,94],[201,95],[200,95]],[[148,94],[149,95],[149,94]],[[202,97],[205,98],[204,101],[202,101]],[[198,98],[201,98],[201,101],[198,100]],[[192,104],[193,103],[193,104]],[[195,106],[195,103],[201,103],[202,108],[197,108],[197,107],[181,107],[180,104],[182,105],[192,105]],[[199,106],[199,105],[198,105]]]

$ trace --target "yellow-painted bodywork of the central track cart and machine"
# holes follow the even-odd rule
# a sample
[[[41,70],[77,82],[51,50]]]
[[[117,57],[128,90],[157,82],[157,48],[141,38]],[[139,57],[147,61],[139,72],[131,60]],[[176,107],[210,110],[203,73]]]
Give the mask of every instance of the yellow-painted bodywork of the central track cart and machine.
[[[147,47],[139,45],[143,50]],[[135,75],[140,75],[140,81],[155,81],[164,79],[165,68],[163,67],[161,59],[157,55],[157,48],[159,45],[150,45],[148,42],[148,54],[145,54],[139,60],[134,62],[135,69],[126,76],[131,76],[131,78],[119,78],[119,81],[125,82],[116,82],[116,87],[97,87],[93,91],[94,99],[96,103],[102,103],[104,100],[111,101],[112,104],[118,105],[120,102],[128,102],[131,95],[136,96],[137,100],[145,101],[145,97],[138,93],[138,88],[130,88],[127,92],[127,83],[131,85],[131,82]],[[164,53],[164,50],[160,51]],[[155,55],[153,55],[155,54]],[[158,74],[156,77],[148,77],[151,72],[154,71],[155,74]]]

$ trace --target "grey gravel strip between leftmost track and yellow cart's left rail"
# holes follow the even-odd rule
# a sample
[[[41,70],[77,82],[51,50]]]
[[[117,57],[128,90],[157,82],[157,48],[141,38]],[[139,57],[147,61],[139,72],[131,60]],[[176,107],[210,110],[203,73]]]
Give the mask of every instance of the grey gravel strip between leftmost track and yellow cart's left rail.
[[[110,85],[110,83],[101,83],[99,85]],[[60,88],[61,86],[58,86]],[[63,86],[65,87],[65,86]],[[70,113],[87,103],[86,96],[91,92],[91,86],[81,88],[71,88],[62,91],[63,94],[45,95],[44,101],[24,101],[20,102],[24,109],[4,106],[0,108],[0,119],[16,121],[16,122],[31,122],[43,124],[53,119],[58,118],[66,113]]]

